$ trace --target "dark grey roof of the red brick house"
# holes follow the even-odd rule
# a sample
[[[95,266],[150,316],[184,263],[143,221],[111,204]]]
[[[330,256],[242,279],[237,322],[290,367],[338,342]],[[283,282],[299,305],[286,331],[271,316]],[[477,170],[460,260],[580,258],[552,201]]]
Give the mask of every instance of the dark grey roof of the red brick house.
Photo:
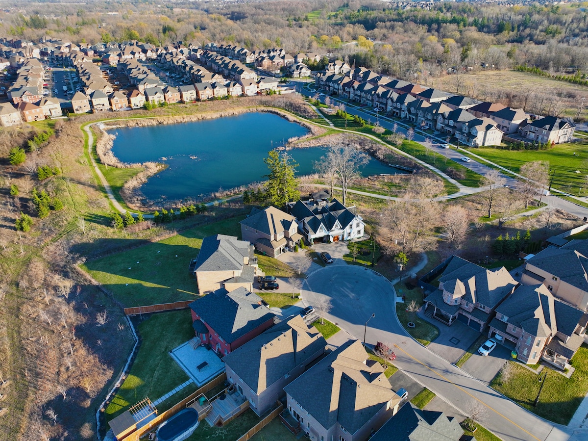
[[[230,293],[221,288],[189,306],[223,340],[232,343],[260,324],[273,320],[274,314],[261,300],[243,287]]]

